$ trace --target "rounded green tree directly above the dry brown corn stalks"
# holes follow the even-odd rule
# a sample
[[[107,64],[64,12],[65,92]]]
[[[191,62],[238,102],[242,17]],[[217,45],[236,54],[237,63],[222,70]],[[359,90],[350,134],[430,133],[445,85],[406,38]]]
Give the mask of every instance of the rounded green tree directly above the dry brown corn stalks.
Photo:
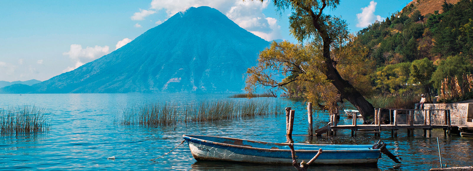
[[[460,55],[450,56],[447,60],[441,60],[437,70],[432,74],[434,87],[439,89],[442,80],[447,76],[462,78],[464,73],[472,73],[473,66],[464,57]],[[461,83],[462,80],[459,80]]]

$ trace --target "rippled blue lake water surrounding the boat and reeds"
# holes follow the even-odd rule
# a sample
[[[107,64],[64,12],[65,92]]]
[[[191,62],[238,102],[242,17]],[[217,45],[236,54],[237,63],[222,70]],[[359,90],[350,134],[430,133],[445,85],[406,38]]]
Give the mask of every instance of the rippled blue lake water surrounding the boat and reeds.
[[[243,120],[224,120],[212,123],[187,124],[170,127],[121,126],[114,124],[116,116],[127,105],[146,102],[199,102],[201,100],[229,99],[248,101],[246,98],[227,98],[231,94],[0,94],[0,107],[35,105],[53,113],[50,131],[27,136],[0,137],[0,169],[2,170],[281,170],[292,166],[273,166],[231,162],[196,162],[186,145],[172,153],[149,161],[171,151],[182,141],[183,134],[235,137],[256,141],[286,142],[285,116],[267,116]],[[296,110],[293,134],[307,134],[307,103],[301,99],[253,98],[285,104]],[[347,106],[348,109],[352,107]],[[328,114],[314,112],[314,129],[326,124]],[[361,120],[358,120],[361,123]],[[340,124],[351,123],[342,116]],[[473,139],[443,137],[442,130],[433,131],[431,138],[415,132],[407,137],[401,130],[398,138],[390,131],[381,137],[359,134],[350,137],[349,131],[337,137],[293,136],[297,143],[312,144],[374,144],[385,141],[387,148],[400,154],[403,163],[394,163],[387,156],[379,159],[377,167],[311,166],[309,170],[353,171],[414,171],[438,167],[437,138],[440,140],[442,160],[451,166],[472,165]],[[107,157],[115,156],[114,160]],[[300,161],[299,161],[300,162]]]

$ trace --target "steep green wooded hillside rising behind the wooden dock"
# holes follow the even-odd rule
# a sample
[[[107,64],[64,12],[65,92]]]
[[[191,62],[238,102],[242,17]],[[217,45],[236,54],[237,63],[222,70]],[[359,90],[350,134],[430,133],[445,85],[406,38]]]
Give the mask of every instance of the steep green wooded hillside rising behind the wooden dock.
[[[421,14],[413,3],[357,34],[376,62],[372,84],[385,95],[438,94],[442,80],[472,72],[473,2],[444,1],[439,11]],[[462,84],[463,80],[459,80]]]

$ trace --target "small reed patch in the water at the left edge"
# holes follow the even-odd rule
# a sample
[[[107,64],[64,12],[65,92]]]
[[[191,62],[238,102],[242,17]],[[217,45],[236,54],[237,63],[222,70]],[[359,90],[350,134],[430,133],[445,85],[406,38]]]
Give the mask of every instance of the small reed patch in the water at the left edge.
[[[47,110],[35,106],[0,108],[0,135],[24,135],[48,131],[50,116]]]

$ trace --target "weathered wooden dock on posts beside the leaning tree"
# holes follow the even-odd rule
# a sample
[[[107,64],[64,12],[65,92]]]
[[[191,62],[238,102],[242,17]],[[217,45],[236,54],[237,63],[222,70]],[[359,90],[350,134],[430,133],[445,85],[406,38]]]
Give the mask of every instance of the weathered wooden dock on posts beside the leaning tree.
[[[352,117],[351,125],[338,125],[338,117],[330,116],[330,122],[316,130],[312,130],[312,103],[307,105],[308,116],[308,136],[336,136],[338,130],[351,130],[351,136],[356,137],[357,133],[374,133],[380,136],[381,131],[391,131],[392,137],[397,137],[399,130],[407,130],[407,137],[414,136],[414,129],[423,129],[424,137],[431,137],[432,129],[443,129],[444,136],[450,136],[452,133],[462,137],[473,137],[473,127],[468,125],[456,125],[451,123],[449,109],[389,109],[388,117],[381,117],[381,109],[374,109],[374,122],[368,125],[358,125],[357,117]],[[432,120],[432,111],[437,111],[437,116]],[[403,114],[400,114],[403,113]],[[290,107],[286,108],[286,135],[291,136],[294,126],[295,111]],[[405,115],[405,116],[404,116]],[[415,116],[418,116],[417,119]],[[404,120],[405,119],[405,120]],[[381,121],[383,120],[383,121]],[[381,124],[381,123],[389,124]]]

